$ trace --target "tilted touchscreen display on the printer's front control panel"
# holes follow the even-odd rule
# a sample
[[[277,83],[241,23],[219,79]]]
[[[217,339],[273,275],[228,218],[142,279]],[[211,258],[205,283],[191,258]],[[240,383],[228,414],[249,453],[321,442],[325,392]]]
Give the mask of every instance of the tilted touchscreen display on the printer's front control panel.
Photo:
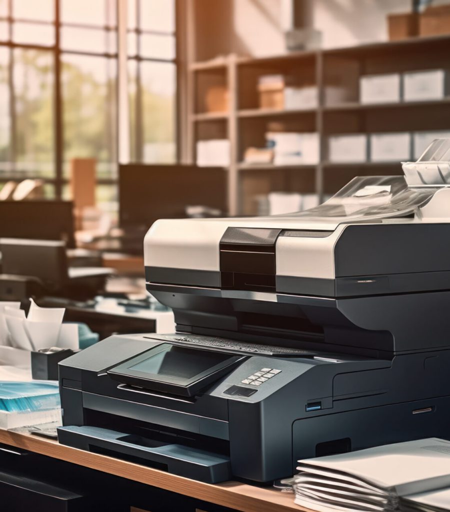
[[[229,354],[218,352],[192,350],[170,344],[163,344],[158,349],[161,347],[164,347],[163,350],[159,350],[128,369],[152,375],[191,379],[230,359]]]

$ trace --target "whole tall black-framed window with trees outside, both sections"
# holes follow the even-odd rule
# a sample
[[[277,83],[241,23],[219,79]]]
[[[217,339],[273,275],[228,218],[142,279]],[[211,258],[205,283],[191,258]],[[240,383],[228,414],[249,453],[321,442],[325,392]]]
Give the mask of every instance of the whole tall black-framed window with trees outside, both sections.
[[[131,160],[174,162],[174,0],[127,5]],[[70,160],[93,157],[97,197],[115,198],[117,13],[117,0],[0,0],[0,188],[41,178],[67,197]]]

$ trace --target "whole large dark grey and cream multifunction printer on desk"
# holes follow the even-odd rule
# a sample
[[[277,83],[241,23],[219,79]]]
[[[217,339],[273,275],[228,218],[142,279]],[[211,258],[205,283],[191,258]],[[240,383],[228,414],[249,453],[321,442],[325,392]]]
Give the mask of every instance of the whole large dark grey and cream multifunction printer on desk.
[[[177,333],[59,364],[59,442],[207,482],[450,437],[450,143],[323,205],[160,220],[148,290]]]

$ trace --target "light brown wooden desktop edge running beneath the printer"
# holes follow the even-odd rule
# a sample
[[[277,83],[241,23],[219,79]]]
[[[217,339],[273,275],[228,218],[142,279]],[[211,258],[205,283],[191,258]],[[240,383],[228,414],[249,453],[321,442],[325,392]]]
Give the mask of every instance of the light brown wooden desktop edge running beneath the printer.
[[[275,489],[261,488],[239,482],[208,484],[170,475],[151,467],[141,466],[105,455],[78,450],[56,441],[29,434],[18,434],[0,429],[0,443],[9,444],[30,452],[65,460],[73,464],[103,471],[110,475],[128,478],[202,501],[242,510],[242,512],[292,512],[306,510],[294,504],[292,494]]]

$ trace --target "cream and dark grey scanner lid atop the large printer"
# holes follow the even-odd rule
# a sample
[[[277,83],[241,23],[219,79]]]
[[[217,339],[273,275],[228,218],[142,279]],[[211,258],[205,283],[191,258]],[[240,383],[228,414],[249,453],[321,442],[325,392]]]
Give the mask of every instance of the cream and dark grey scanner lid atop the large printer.
[[[367,258],[364,254],[357,257],[360,244],[354,240],[356,234],[353,239],[348,233],[344,238],[342,234],[350,227],[360,226],[367,231],[365,226],[378,225],[383,228],[378,252],[397,238],[391,231],[386,238],[385,224],[448,224],[449,162],[450,139],[437,139],[417,162],[402,164],[404,176],[356,177],[331,199],[306,211],[254,218],[159,220],[144,242],[147,282],[223,289],[228,287],[227,273],[234,277],[245,274],[245,279],[250,274],[270,274],[271,280],[279,281],[280,276],[334,280],[337,276],[404,272],[403,268],[397,269],[395,260],[403,266],[405,254],[400,250],[398,255],[390,256],[392,264],[386,268],[378,268],[380,265],[373,262],[373,268],[360,269],[358,262]],[[429,238],[431,229],[426,227],[426,231],[425,238]],[[415,235],[408,231],[404,237],[413,240]],[[345,262],[339,268],[344,258],[336,251],[344,245],[345,253],[354,252],[345,260],[355,268],[347,268]],[[411,272],[441,270],[440,264],[424,265],[423,261],[417,258]],[[233,281],[235,289],[240,286]],[[259,286],[257,283],[254,288]],[[276,291],[281,290],[285,291],[284,287],[276,286]]]

